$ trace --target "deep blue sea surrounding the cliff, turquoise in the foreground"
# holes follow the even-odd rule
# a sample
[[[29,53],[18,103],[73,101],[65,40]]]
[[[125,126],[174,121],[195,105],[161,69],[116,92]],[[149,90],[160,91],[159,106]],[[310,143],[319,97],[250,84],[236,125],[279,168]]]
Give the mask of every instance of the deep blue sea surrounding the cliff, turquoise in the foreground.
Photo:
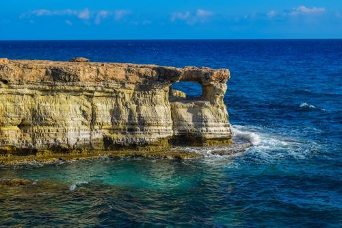
[[[0,167],[0,178],[35,181],[0,187],[0,227],[342,226],[342,40],[0,41],[0,58],[79,56],[229,68],[234,140],[252,146]]]

